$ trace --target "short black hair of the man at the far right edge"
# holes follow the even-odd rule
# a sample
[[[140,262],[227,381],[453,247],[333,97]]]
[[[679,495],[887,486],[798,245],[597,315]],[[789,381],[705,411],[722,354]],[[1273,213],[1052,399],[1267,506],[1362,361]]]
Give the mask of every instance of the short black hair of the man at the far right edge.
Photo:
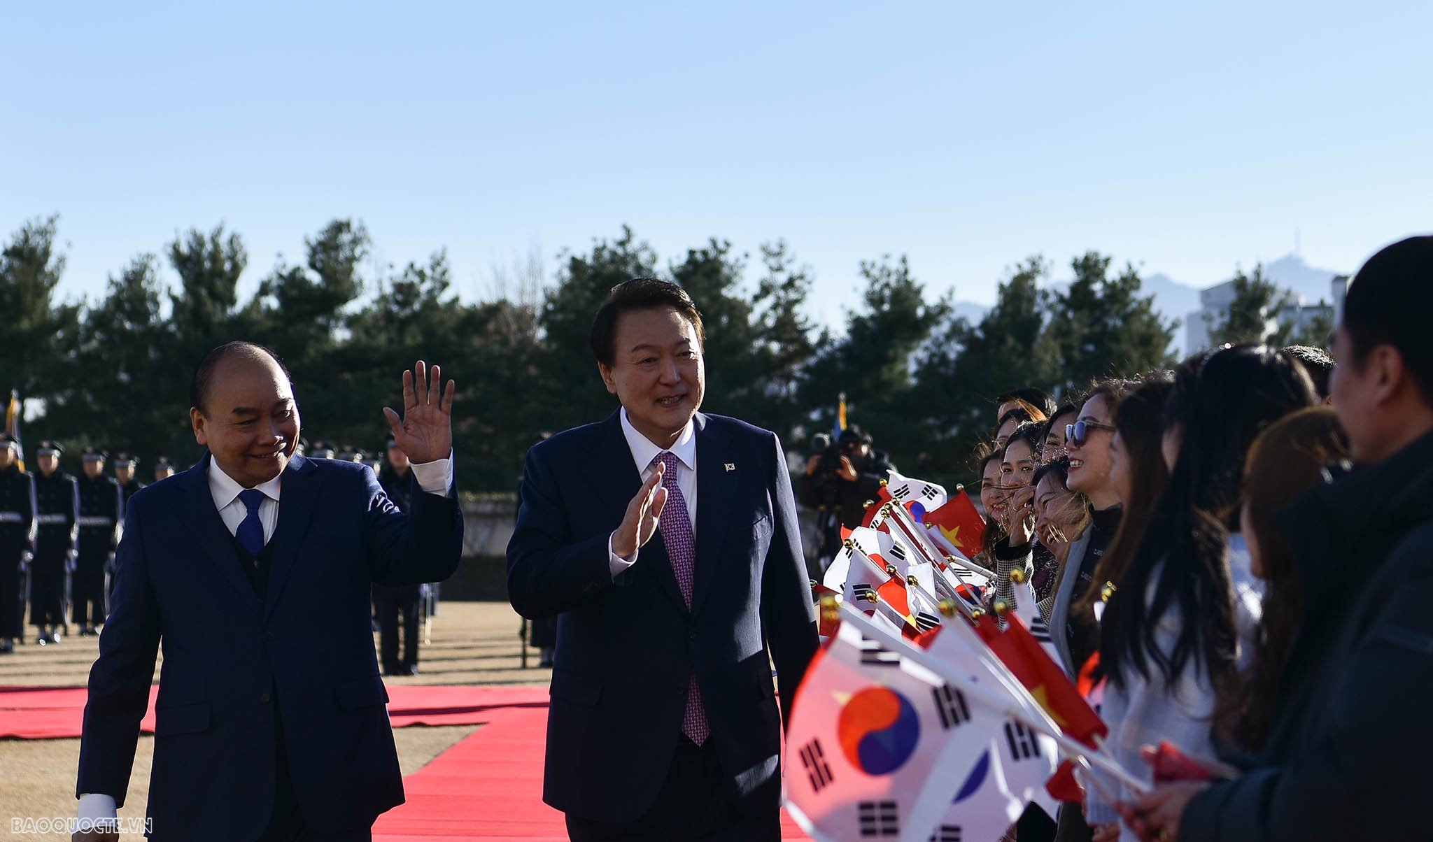
[[[1427,289],[1433,282],[1433,236],[1410,236],[1386,246],[1348,282],[1343,326],[1360,365],[1376,345],[1393,345],[1423,402],[1433,405],[1433,321]]]

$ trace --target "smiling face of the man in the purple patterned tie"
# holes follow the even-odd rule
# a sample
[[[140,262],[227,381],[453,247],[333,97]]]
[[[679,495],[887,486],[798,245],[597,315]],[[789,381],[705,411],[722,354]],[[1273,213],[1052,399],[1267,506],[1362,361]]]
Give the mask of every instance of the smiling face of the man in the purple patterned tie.
[[[632,427],[662,448],[676,441],[706,391],[696,328],[669,306],[618,316],[612,365],[599,362],[598,371],[622,401]]]

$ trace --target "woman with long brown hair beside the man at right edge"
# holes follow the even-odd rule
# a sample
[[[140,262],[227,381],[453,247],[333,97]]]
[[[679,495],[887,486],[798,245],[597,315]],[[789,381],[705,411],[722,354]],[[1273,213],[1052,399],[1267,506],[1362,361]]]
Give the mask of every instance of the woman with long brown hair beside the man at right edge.
[[[1218,687],[1215,733],[1231,749],[1258,752],[1274,720],[1284,659],[1304,619],[1304,593],[1294,554],[1274,516],[1300,493],[1324,483],[1327,465],[1347,463],[1348,434],[1330,407],[1300,410],[1270,425],[1244,463],[1240,531],[1248,544],[1250,571],[1264,580],[1264,603],[1248,666]]]

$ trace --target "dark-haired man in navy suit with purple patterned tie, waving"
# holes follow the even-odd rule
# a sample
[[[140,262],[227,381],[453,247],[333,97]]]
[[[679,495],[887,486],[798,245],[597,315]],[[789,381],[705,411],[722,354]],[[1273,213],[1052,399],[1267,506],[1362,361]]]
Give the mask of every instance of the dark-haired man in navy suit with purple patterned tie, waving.
[[[622,408],[536,445],[507,546],[524,617],[560,614],[543,799],[572,839],[780,839],[781,707],[817,649],[777,437],[699,414],[702,321],[638,278],[592,349]]]

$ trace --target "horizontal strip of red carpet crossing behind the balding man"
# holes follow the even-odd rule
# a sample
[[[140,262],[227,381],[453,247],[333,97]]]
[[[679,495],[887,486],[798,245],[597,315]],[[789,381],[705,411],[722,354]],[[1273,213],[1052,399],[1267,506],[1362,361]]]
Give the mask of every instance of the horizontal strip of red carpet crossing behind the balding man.
[[[155,730],[155,693],[140,730]],[[77,737],[85,720],[85,687],[0,687],[0,737],[27,740]],[[546,687],[388,687],[388,717],[408,725],[476,725],[499,710],[547,710]]]

